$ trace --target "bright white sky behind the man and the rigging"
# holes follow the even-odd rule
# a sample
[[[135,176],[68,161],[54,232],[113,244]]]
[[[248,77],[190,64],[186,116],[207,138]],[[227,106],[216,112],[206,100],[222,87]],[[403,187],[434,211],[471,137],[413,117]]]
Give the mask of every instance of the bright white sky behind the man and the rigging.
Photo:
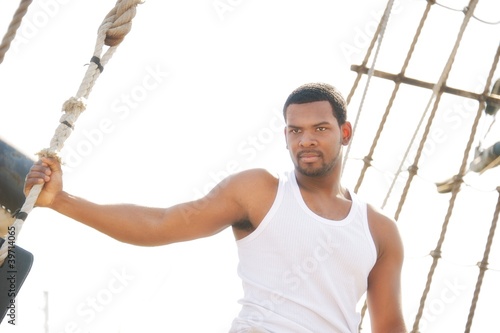
[[[49,145],[61,105],[76,94],[97,28],[114,3],[34,1],[0,65],[3,140],[30,157]],[[440,3],[462,9],[468,1]],[[399,72],[425,5],[424,0],[396,1],[377,69]],[[98,79],[87,111],[61,152],[66,189],[102,203],[169,206],[200,196],[231,172],[290,168],[281,132],[284,99],[310,81],[334,84],[347,96],[355,79],[350,66],[361,63],[385,6],[386,0],[147,1],[139,6],[131,33]],[[16,7],[2,4],[3,31]],[[500,3],[480,0],[476,16],[500,21]],[[433,7],[408,76],[438,80],[463,17],[459,11]],[[482,91],[499,33],[498,24],[471,20],[450,86]],[[494,80],[498,77],[497,70]],[[350,104],[353,122],[365,84],[366,77]],[[351,188],[392,87],[386,80],[371,80],[344,174]],[[381,205],[430,96],[429,90],[401,88],[374,155],[375,168],[360,189],[374,205]],[[443,97],[398,221],[406,246],[403,296],[410,328],[431,263],[428,253],[436,246],[450,198],[438,194],[434,183],[458,172],[476,109],[476,102]],[[484,140],[486,147],[499,140],[498,130]],[[482,126],[474,144],[484,132]],[[475,264],[481,261],[497,200],[498,172],[466,179],[422,332],[464,330],[478,275]],[[405,179],[403,173],[385,207],[389,215]],[[497,244],[473,332],[500,326],[493,310],[500,293]],[[34,253],[35,264],[18,297],[18,325],[4,321],[2,332],[45,332],[45,291],[50,333],[226,332],[239,309],[230,230],[196,242],[139,248],[35,209],[18,245]]]

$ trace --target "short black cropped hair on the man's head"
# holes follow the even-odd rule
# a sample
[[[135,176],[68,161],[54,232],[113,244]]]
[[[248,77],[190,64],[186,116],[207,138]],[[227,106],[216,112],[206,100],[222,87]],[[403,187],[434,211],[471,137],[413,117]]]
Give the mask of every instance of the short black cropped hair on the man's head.
[[[328,101],[333,109],[333,115],[339,125],[347,120],[347,103],[338,89],[328,83],[306,83],[288,96],[283,106],[283,117],[286,120],[286,109],[290,104],[304,104]]]

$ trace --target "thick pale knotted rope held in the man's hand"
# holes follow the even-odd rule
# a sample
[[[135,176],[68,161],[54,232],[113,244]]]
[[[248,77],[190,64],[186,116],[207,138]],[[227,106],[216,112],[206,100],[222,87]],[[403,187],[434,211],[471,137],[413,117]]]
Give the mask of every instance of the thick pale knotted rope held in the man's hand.
[[[142,0],[118,0],[115,7],[106,15],[101,23],[97,41],[89,64],[78,92],[74,97],[70,97],[64,102],[62,111],[64,114],[60,118],[60,124],[56,128],[55,134],[50,141],[50,147],[43,149],[38,153],[40,157],[56,157],[61,151],[64,142],[73,131],[75,122],[80,114],[85,111],[85,101],[88,98],[97,78],[101,74],[104,66],[111,59],[118,45],[123,41],[132,27],[132,19],[136,14],[136,7]],[[103,50],[104,46],[109,48]],[[35,185],[26,197],[20,212],[17,213],[16,220],[9,228],[9,238],[0,248],[0,265],[8,255],[9,248],[14,247],[19,232],[22,229],[24,220],[33,210],[35,202],[42,190],[43,185]]]

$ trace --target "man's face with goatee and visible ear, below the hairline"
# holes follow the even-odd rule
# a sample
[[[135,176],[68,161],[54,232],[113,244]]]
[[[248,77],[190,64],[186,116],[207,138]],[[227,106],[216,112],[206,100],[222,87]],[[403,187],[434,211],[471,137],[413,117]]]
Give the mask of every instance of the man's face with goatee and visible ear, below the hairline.
[[[328,101],[291,104],[286,111],[285,137],[297,171],[324,176],[341,160],[342,145],[349,142],[351,126],[339,126]]]

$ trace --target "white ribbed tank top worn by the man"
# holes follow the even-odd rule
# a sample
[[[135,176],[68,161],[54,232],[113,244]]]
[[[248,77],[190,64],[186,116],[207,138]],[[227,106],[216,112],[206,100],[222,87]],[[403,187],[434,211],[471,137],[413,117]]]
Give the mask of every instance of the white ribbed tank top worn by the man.
[[[244,296],[230,333],[357,332],[377,253],[366,204],[351,197],[347,217],[328,220],[307,207],[293,171],[280,177],[267,215],[237,241]]]

